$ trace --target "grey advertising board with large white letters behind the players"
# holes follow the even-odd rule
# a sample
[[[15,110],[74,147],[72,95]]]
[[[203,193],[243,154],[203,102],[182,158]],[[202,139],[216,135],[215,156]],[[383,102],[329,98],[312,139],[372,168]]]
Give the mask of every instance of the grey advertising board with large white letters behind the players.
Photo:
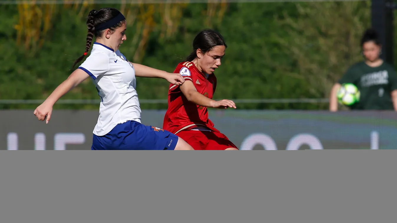
[[[165,111],[142,111],[162,128]],[[89,150],[98,111],[56,110],[49,124],[33,111],[0,111],[2,150]],[[240,111],[210,109],[215,127],[240,150],[395,149],[395,112]]]

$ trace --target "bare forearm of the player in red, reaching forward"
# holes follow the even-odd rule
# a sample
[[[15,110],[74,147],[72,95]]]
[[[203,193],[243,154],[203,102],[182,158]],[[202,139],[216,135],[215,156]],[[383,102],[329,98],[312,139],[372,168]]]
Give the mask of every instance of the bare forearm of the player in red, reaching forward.
[[[220,101],[215,101],[198,93],[193,82],[189,80],[179,88],[181,89],[183,95],[185,95],[186,99],[192,103],[195,103],[196,105],[216,109],[227,109],[229,107],[236,108],[235,103],[231,100],[223,99]]]

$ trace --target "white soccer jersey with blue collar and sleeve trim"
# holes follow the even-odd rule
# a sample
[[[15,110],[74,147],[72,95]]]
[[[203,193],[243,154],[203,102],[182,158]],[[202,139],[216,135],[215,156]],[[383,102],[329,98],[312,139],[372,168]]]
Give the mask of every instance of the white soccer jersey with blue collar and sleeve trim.
[[[141,122],[135,69],[119,50],[114,52],[94,42],[91,54],[79,69],[93,78],[101,99],[95,135],[106,135],[117,124],[129,120]]]

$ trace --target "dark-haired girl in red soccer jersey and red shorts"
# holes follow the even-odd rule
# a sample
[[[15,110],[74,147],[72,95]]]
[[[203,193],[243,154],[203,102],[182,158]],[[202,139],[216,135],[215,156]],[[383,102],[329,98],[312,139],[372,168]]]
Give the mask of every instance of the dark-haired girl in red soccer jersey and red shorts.
[[[220,33],[202,30],[193,40],[193,52],[174,71],[185,78],[185,83],[170,84],[163,128],[184,139],[195,150],[238,150],[208,119],[208,107],[236,108],[231,100],[212,100],[216,89],[214,71],[221,65],[226,48]]]

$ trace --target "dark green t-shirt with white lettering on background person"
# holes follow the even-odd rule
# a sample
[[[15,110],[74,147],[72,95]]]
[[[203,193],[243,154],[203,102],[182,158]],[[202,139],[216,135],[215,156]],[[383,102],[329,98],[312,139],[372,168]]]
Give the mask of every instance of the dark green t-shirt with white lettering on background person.
[[[347,70],[338,83],[351,83],[360,90],[360,101],[351,109],[393,110],[391,91],[397,90],[397,74],[394,67],[386,62],[379,67],[357,63]]]

